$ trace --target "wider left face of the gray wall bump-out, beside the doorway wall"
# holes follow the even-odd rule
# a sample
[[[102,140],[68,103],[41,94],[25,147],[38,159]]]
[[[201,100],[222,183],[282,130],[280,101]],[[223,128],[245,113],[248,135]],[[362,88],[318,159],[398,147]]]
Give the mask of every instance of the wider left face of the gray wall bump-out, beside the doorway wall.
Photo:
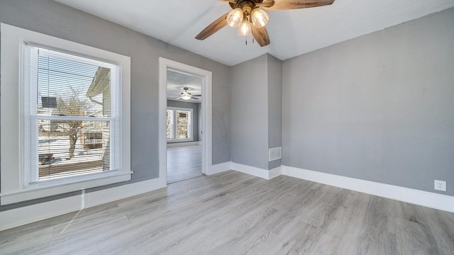
[[[268,169],[266,70],[267,55],[231,67],[231,160],[260,169]]]

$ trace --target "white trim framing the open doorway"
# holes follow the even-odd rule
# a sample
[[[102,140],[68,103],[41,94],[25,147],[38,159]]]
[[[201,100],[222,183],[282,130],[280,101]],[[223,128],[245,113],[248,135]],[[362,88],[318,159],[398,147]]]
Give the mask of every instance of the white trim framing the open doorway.
[[[201,142],[201,172],[210,174],[212,164],[212,101],[211,86],[212,73],[204,69],[192,67],[164,57],[159,58],[159,179],[160,186],[167,186],[167,139],[166,139],[166,112],[167,112],[167,69],[181,71],[202,78],[201,85],[201,112],[202,112],[202,142]]]

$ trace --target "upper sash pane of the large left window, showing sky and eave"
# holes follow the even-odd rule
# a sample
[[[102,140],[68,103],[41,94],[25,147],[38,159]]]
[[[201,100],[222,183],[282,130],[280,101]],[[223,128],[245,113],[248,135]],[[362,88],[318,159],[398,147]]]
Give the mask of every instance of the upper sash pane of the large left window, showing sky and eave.
[[[111,69],[34,47],[38,53],[38,115],[111,116]]]

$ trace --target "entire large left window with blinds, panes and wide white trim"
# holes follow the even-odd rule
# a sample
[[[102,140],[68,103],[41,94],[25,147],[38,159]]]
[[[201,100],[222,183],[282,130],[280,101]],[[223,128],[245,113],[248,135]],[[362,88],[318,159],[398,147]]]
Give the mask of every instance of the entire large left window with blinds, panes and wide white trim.
[[[131,179],[129,57],[2,23],[0,70],[2,205]]]

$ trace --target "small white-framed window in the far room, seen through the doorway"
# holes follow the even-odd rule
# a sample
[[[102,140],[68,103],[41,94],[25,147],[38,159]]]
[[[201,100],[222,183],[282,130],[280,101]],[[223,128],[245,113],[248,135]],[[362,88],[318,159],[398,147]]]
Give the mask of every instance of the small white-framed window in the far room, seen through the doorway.
[[[167,142],[192,140],[192,109],[168,107]]]

